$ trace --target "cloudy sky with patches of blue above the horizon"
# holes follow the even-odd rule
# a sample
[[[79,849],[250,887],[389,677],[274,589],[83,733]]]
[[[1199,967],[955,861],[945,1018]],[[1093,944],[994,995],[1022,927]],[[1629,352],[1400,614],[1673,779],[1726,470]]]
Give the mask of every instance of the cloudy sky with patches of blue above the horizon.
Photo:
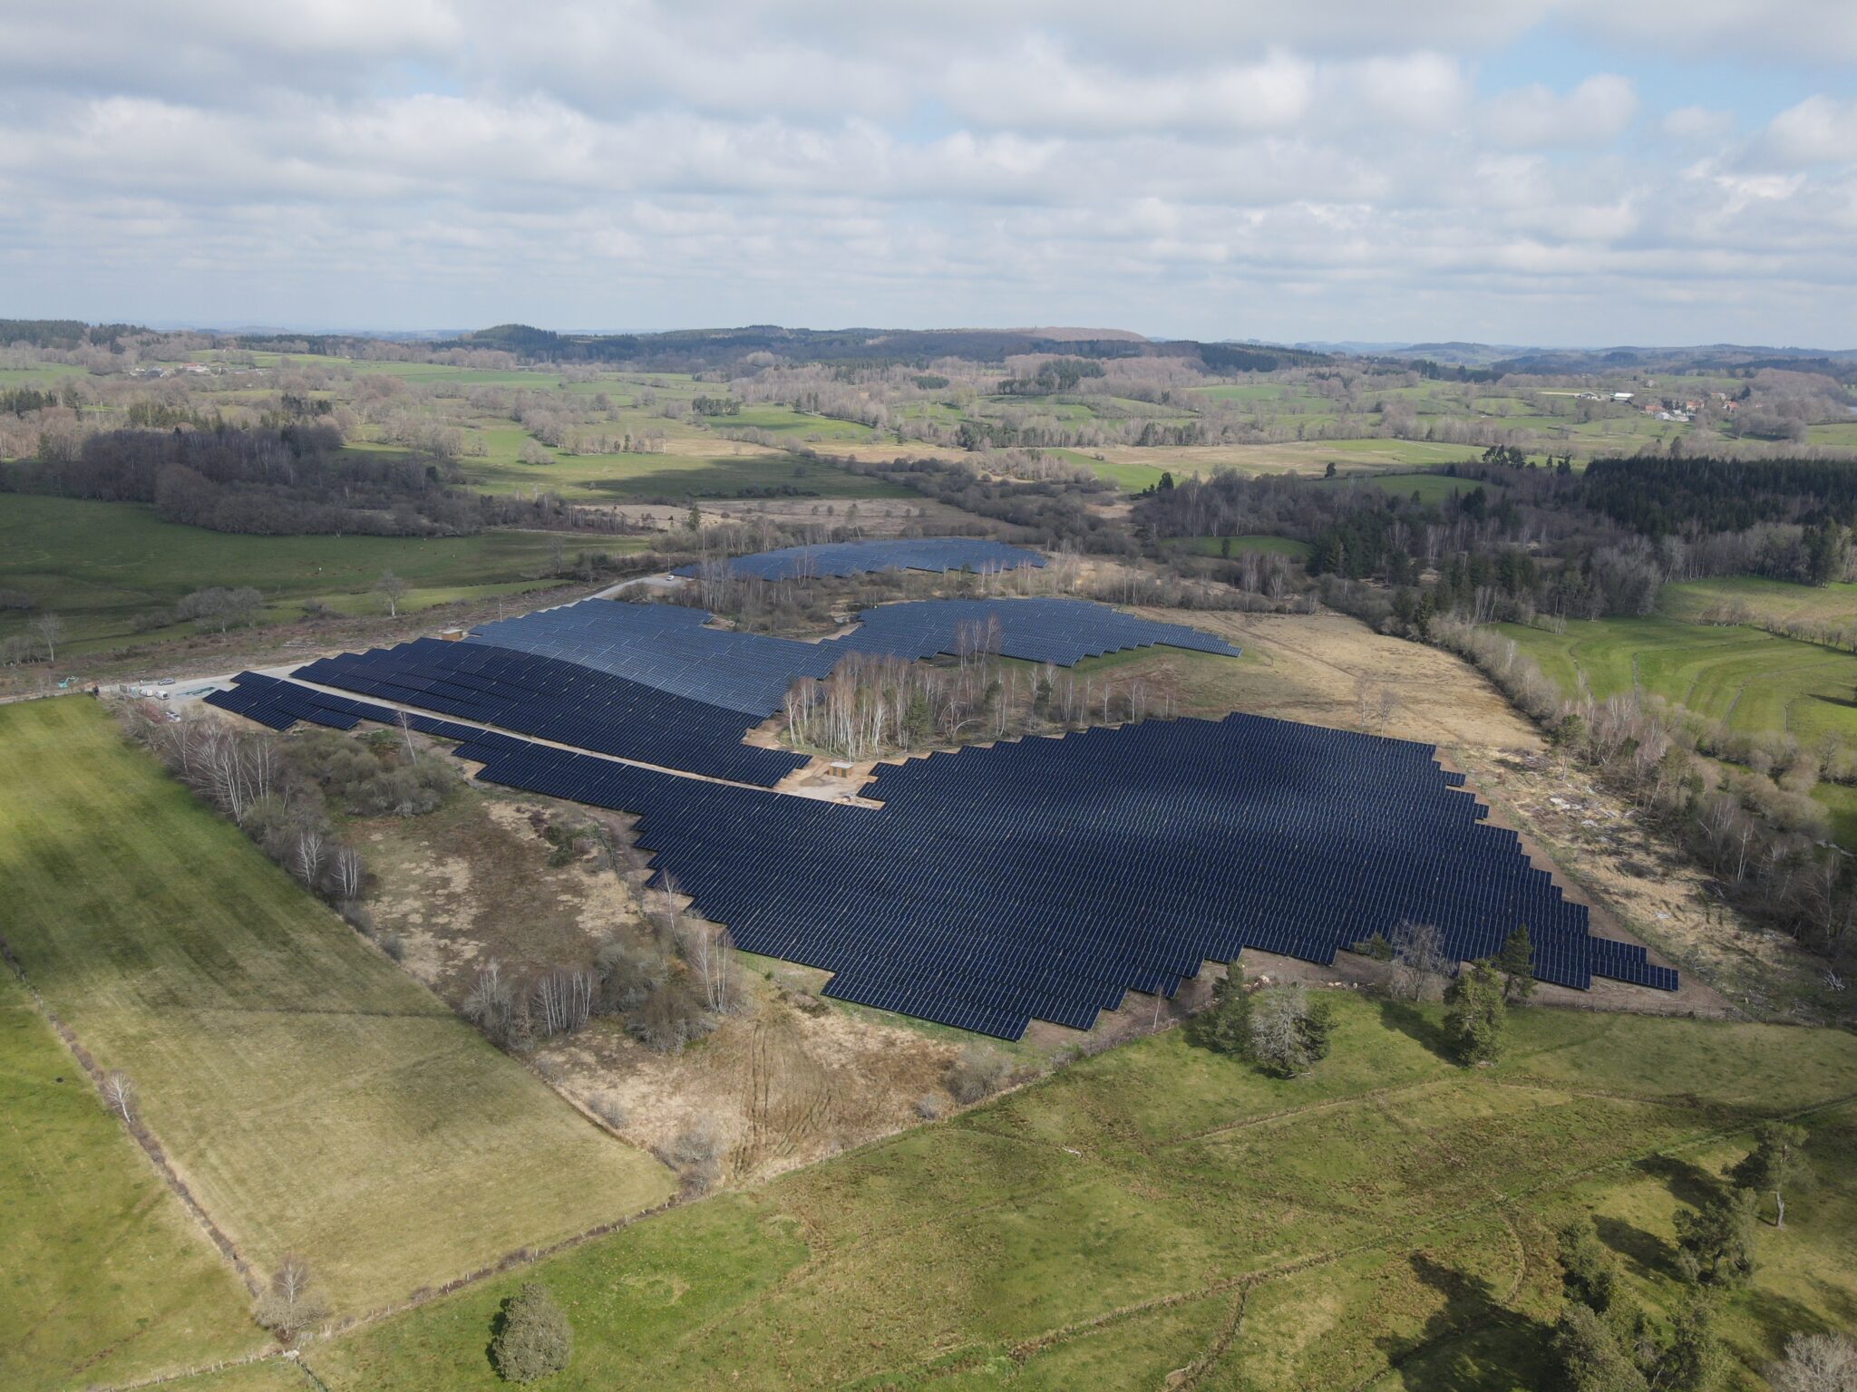
[[[0,0],[0,316],[1857,347],[1857,0]]]

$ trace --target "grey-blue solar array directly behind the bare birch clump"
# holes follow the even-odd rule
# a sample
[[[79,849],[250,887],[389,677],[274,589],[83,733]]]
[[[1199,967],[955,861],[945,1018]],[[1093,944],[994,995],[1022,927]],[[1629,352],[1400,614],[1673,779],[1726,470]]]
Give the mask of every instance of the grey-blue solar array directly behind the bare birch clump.
[[[858,614],[843,638],[797,642],[706,627],[682,605],[583,599],[485,624],[472,642],[579,663],[678,696],[747,715],[778,711],[797,677],[823,677],[847,653],[934,657],[982,637],[1005,657],[1075,666],[1084,657],[1166,644],[1237,657],[1239,650],[1185,624],[1157,624],[1090,599],[921,599]]]

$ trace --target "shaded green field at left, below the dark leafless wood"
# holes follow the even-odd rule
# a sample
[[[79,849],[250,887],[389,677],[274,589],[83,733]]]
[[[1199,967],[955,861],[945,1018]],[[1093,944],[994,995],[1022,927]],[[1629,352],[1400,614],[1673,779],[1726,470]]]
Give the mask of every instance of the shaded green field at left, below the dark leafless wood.
[[[626,536],[566,535],[579,549],[631,551]],[[555,538],[531,531],[475,536],[241,536],[163,522],[137,503],[0,494],[0,588],[26,590],[39,611],[58,612],[71,651],[82,653],[134,637],[158,642],[193,625],[134,635],[130,620],[208,586],[251,585],[273,616],[301,612],[321,599],[342,612],[384,612],[373,594],[381,572],[409,586],[401,609],[514,594],[552,581]],[[20,633],[28,614],[0,616],[0,637]]]

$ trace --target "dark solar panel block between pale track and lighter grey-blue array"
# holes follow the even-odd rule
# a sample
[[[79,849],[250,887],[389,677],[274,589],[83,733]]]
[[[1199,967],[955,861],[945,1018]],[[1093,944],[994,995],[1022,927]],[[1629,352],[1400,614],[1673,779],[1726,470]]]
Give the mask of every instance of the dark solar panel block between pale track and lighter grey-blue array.
[[[487,642],[414,638],[397,648],[321,657],[295,676],[581,750],[761,787],[806,765],[802,754],[743,744],[747,722],[739,711]]]

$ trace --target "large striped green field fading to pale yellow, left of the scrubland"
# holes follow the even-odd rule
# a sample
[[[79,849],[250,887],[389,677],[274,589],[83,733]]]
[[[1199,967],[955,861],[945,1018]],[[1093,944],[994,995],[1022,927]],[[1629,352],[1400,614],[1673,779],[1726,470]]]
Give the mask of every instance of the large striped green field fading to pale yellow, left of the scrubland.
[[[256,1268],[299,1251],[362,1310],[672,1190],[97,703],[0,707],[0,757],[11,948]]]

